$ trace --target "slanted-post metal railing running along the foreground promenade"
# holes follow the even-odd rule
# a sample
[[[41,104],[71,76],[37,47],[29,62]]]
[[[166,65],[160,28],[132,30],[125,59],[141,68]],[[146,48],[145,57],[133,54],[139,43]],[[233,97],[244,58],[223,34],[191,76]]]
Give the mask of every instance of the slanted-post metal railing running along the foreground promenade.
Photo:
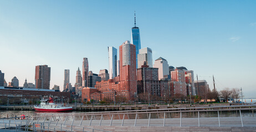
[[[90,113],[63,113],[63,114],[43,114],[42,116],[25,117],[25,120],[17,120],[17,118],[0,119],[0,128],[2,129],[18,129],[33,131],[104,131],[91,127],[102,126],[173,126],[174,121],[179,121],[176,126],[202,126],[204,118],[218,118],[216,124],[218,127],[224,127],[221,119],[222,112],[235,113],[232,119],[239,119],[240,127],[244,127],[242,113],[249,113],[254,119],[255,105],[252,106],[221,106],[221,107],[192,107],[192,108],[172,108],[172,109],[145,109],[137,111],[115,111],[115,112],[90,112]],[[193,114],[192,114],[193,113]],[[238,116],[239,115],[239,116]],[[197,119],[196,124],[186,124],[188,119]],[[250,117],[251,118],[251,117]],[[174,120],[174,121],[173,121]],[[234,120],[232,120],[234,121]],[[236,123],[238,120],[236,120]],[[238,126],[239,124],[235,124]],[[247,124],[245,124],[247,125]],[[254,124],[253,124],[254,125]],[[87,127],[85,127],[87,126]],[[256,124],[254,125],[254,127]]]

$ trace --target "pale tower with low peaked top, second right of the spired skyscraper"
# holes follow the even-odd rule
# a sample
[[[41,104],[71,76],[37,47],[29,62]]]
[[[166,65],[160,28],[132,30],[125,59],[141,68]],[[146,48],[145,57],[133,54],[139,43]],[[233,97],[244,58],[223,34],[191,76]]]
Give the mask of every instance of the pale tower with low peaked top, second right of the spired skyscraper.
[[[169,75],[169,65],[166,59],[162,57],[156,59],[153,67],[158,68],[158,80],[163,79],[165,75]]]

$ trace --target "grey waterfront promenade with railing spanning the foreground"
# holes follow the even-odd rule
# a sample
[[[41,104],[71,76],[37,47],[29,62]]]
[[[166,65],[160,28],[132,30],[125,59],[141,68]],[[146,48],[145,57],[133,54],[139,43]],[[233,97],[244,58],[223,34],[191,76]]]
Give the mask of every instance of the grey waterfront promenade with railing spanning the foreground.
[[[48,113],[0,119],[2,129],[50,131],[256,131],[256,105]]]

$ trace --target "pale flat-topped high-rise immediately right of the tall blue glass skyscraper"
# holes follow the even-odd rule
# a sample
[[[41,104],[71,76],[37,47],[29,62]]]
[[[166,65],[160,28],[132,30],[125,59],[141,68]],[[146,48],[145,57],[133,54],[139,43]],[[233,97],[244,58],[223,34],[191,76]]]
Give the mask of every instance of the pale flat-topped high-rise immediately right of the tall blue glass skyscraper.
[[[141,65],[144,65],[144,62],[146,62],[147,65],[149,65],[150,68],[152,68],[152,50],[148,47],[141,48],[139,50],[139,54],[137,54],[138,57],[138,67],[141,68]]]

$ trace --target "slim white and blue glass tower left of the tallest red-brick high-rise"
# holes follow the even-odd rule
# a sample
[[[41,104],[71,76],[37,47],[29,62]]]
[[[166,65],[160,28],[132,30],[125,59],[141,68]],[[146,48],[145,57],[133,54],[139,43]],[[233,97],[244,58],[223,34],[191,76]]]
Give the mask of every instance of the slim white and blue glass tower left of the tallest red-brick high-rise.
[[[115,47],[107,47],[109,50],[109,78],[117,76],[117,50]]]

